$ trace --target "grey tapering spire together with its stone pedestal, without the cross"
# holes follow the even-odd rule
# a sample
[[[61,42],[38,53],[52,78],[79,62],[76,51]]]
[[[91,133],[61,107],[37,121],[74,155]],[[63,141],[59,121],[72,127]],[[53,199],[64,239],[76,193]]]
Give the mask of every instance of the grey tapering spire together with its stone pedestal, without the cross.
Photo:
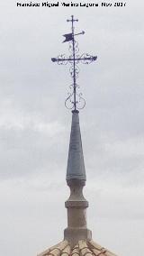
[[[72,247],[79,240],[85,239],[90,241],[92,239],[92,232],[87,229],[86,224],[88,202],[83,196],[85,180],[85,164],[78,111],[73,110],[67,160],[67,186],[70,188],[70,197],[65,202],[67,208],[67,228],[64,230],[64,239]]]

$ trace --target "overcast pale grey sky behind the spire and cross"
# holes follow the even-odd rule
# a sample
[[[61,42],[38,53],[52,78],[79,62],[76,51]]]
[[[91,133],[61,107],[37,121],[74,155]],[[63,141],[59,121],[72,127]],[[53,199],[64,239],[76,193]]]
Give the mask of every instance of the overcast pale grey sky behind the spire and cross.
[[[24,1],[23,1],[24,2]],[[39,2],[39,1],[38,1]],[[97,1],[99,2],[99,1]],[[25,3],[25,2],[24,2]],[[40,3],[40,2],[39,2]],[[100,2],[99,2],[100,3]],[[112,2],[113,3],[113,2]],[[0,251],[31,256],[63,239],[71,113],[62,35],[74,14],[81,52],[78,84],[89,201],[95,242],[120,256],[143,253],[144,3],[116,8],[26,8],[0,3]]]

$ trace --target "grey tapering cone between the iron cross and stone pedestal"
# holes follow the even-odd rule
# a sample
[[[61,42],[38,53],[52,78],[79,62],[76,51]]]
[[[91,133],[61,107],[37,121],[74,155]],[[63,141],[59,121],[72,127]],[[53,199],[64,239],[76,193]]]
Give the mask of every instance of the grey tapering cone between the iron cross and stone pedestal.
[[[72,112],[71,134],[67,160],[67,180],[86,180],[78,111]]]

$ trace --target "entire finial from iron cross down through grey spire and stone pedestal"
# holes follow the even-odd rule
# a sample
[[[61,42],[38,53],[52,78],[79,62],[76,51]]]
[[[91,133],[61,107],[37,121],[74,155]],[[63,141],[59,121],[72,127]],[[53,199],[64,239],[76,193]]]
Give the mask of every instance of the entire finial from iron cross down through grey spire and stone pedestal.
[[[67,22],[71,23],[71,32],[63,35],[65,37],[63,42],[69,42],[70,56],[65,57],[62,54],[58,58],[52,58],[51,60],[61,65],[70,63],[69,71],[73,80],[72,85],[70,85],[71,92],[68,93],[65,101],[67,108],[72,110],[72,124],[67,160],[67,185],[70,188],[70,197],[65,203],[67,207],[67,228],[64,231],[64,237],[71,246],[74,246],[79,240],[91,240],[92,238],[92,233],[87,229],[86,225],[85,212],[88,202],[83,196],[86,177],[78,116],[78,110],[85,107],[85,99],[81,93],[78,93],[79,86],[76,80],[79,73],[78,64],[89,64],[97,57],[87,53],[79,54],[76,36],[85,32],[75,33],[74,23],[78,22],[78,20],[74,19],[74,15]]]

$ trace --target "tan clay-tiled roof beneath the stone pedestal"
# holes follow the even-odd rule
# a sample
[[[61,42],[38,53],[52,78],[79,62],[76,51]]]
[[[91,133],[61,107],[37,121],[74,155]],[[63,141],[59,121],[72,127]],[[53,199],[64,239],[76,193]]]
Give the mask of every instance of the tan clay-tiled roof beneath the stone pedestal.
[[[75,247],[70,248],[67,240],[59,242],[38,256],[116,256],[94,241],[80,240]]]

